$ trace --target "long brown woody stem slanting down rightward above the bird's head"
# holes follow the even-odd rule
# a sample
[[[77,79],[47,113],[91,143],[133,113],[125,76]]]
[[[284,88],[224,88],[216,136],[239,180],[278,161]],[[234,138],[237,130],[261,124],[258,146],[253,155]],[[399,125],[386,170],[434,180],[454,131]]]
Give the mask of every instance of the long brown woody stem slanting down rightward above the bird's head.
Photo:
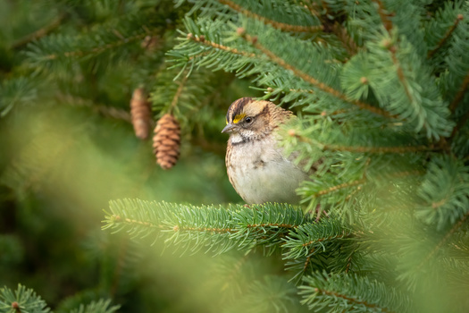
[[[244,30],[243,30],[244,31]],[[302,80],[305,80],[306,82],[314,85],[315,88],[317,89],[320,89],[322,90],[323,92],[325,93],[328,93],[330,94],[331,96],[333,97],[337,97],[339,98],[340,100],[344,101],[344,102],[347,102],[349,104],[352,104],[354,106],[357,106],[361,109],[364,109],[364,110],[367,110],[367,111],[370,111],[372,112],[373,114],[379,114],[379,115],[382,115],[384,117],[390,117],[390,118],[395,118],[397,116],[395,115],[391,115],[389,114],[388,112],[384,111],[384,110],[381,110],[380,108],[378,107],[374,107],[374,106],[370,106],[368,104],[365,104],[364,102],[362,101],[359,101],[359,100],[354,100],[354,99],[350,99],[348,98],[346,95],[344,95],[342,92],[340,92],[339,90],[337,89],[333,89],[331,88],[330,86],[324,84],[323,82],[319,81],[319,80],[316,80],[314,79],[314,77],[306,74],[306,72],[302,72],[300,70],[298,70],[296,67],[294,67],[293,65],[285,62],[280,56],[278,55],[275,55],[272,53],[272,51],[270,51],[269,49],[267,49],[266,47],[262,46],[261,44],[259,44],[257,42],[257,38],[256,37],[251,37],[250,35],[247,35],[247,34],[242,34],[243,35],[243,38],[246,38],[248,42],[250,42],[255,48],[257,48],[258,50],[260,50],[262,53],[264,53],[264,55],[266,55],[267,57],[269,57],[272,62],[274,63],[277,63],[279,64],[282,68],[284,68],[285,70],[288,70],[288,71],[291,71],[293,72],[297,77],[301,78]]]

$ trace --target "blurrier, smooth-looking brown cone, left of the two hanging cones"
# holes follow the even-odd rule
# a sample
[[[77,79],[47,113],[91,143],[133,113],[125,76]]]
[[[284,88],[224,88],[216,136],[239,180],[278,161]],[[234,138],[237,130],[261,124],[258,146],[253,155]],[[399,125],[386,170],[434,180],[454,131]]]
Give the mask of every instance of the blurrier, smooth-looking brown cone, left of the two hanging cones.
[[[130,115],[135,135],[141,140],[148,138],[152,122],[151,114],[145,90],[143,88],[135,89],[130,100]]]

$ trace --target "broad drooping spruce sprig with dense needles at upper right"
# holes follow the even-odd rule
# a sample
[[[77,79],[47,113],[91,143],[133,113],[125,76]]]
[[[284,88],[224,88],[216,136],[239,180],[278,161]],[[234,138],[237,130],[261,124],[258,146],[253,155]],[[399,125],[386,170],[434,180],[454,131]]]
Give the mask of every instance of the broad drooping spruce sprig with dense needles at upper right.
[[[440,140],[453,129],[448,104],[440,97],[431,67],[423,63],[415,47],[398,33],[378,35],[368,41],[364,66],[367,77],[382,107],[398,114],[416,132],[425,131],[428,138]],[[358,63],[359,61],[356,60]],[[386,75],[381,75],[385,71]]]

